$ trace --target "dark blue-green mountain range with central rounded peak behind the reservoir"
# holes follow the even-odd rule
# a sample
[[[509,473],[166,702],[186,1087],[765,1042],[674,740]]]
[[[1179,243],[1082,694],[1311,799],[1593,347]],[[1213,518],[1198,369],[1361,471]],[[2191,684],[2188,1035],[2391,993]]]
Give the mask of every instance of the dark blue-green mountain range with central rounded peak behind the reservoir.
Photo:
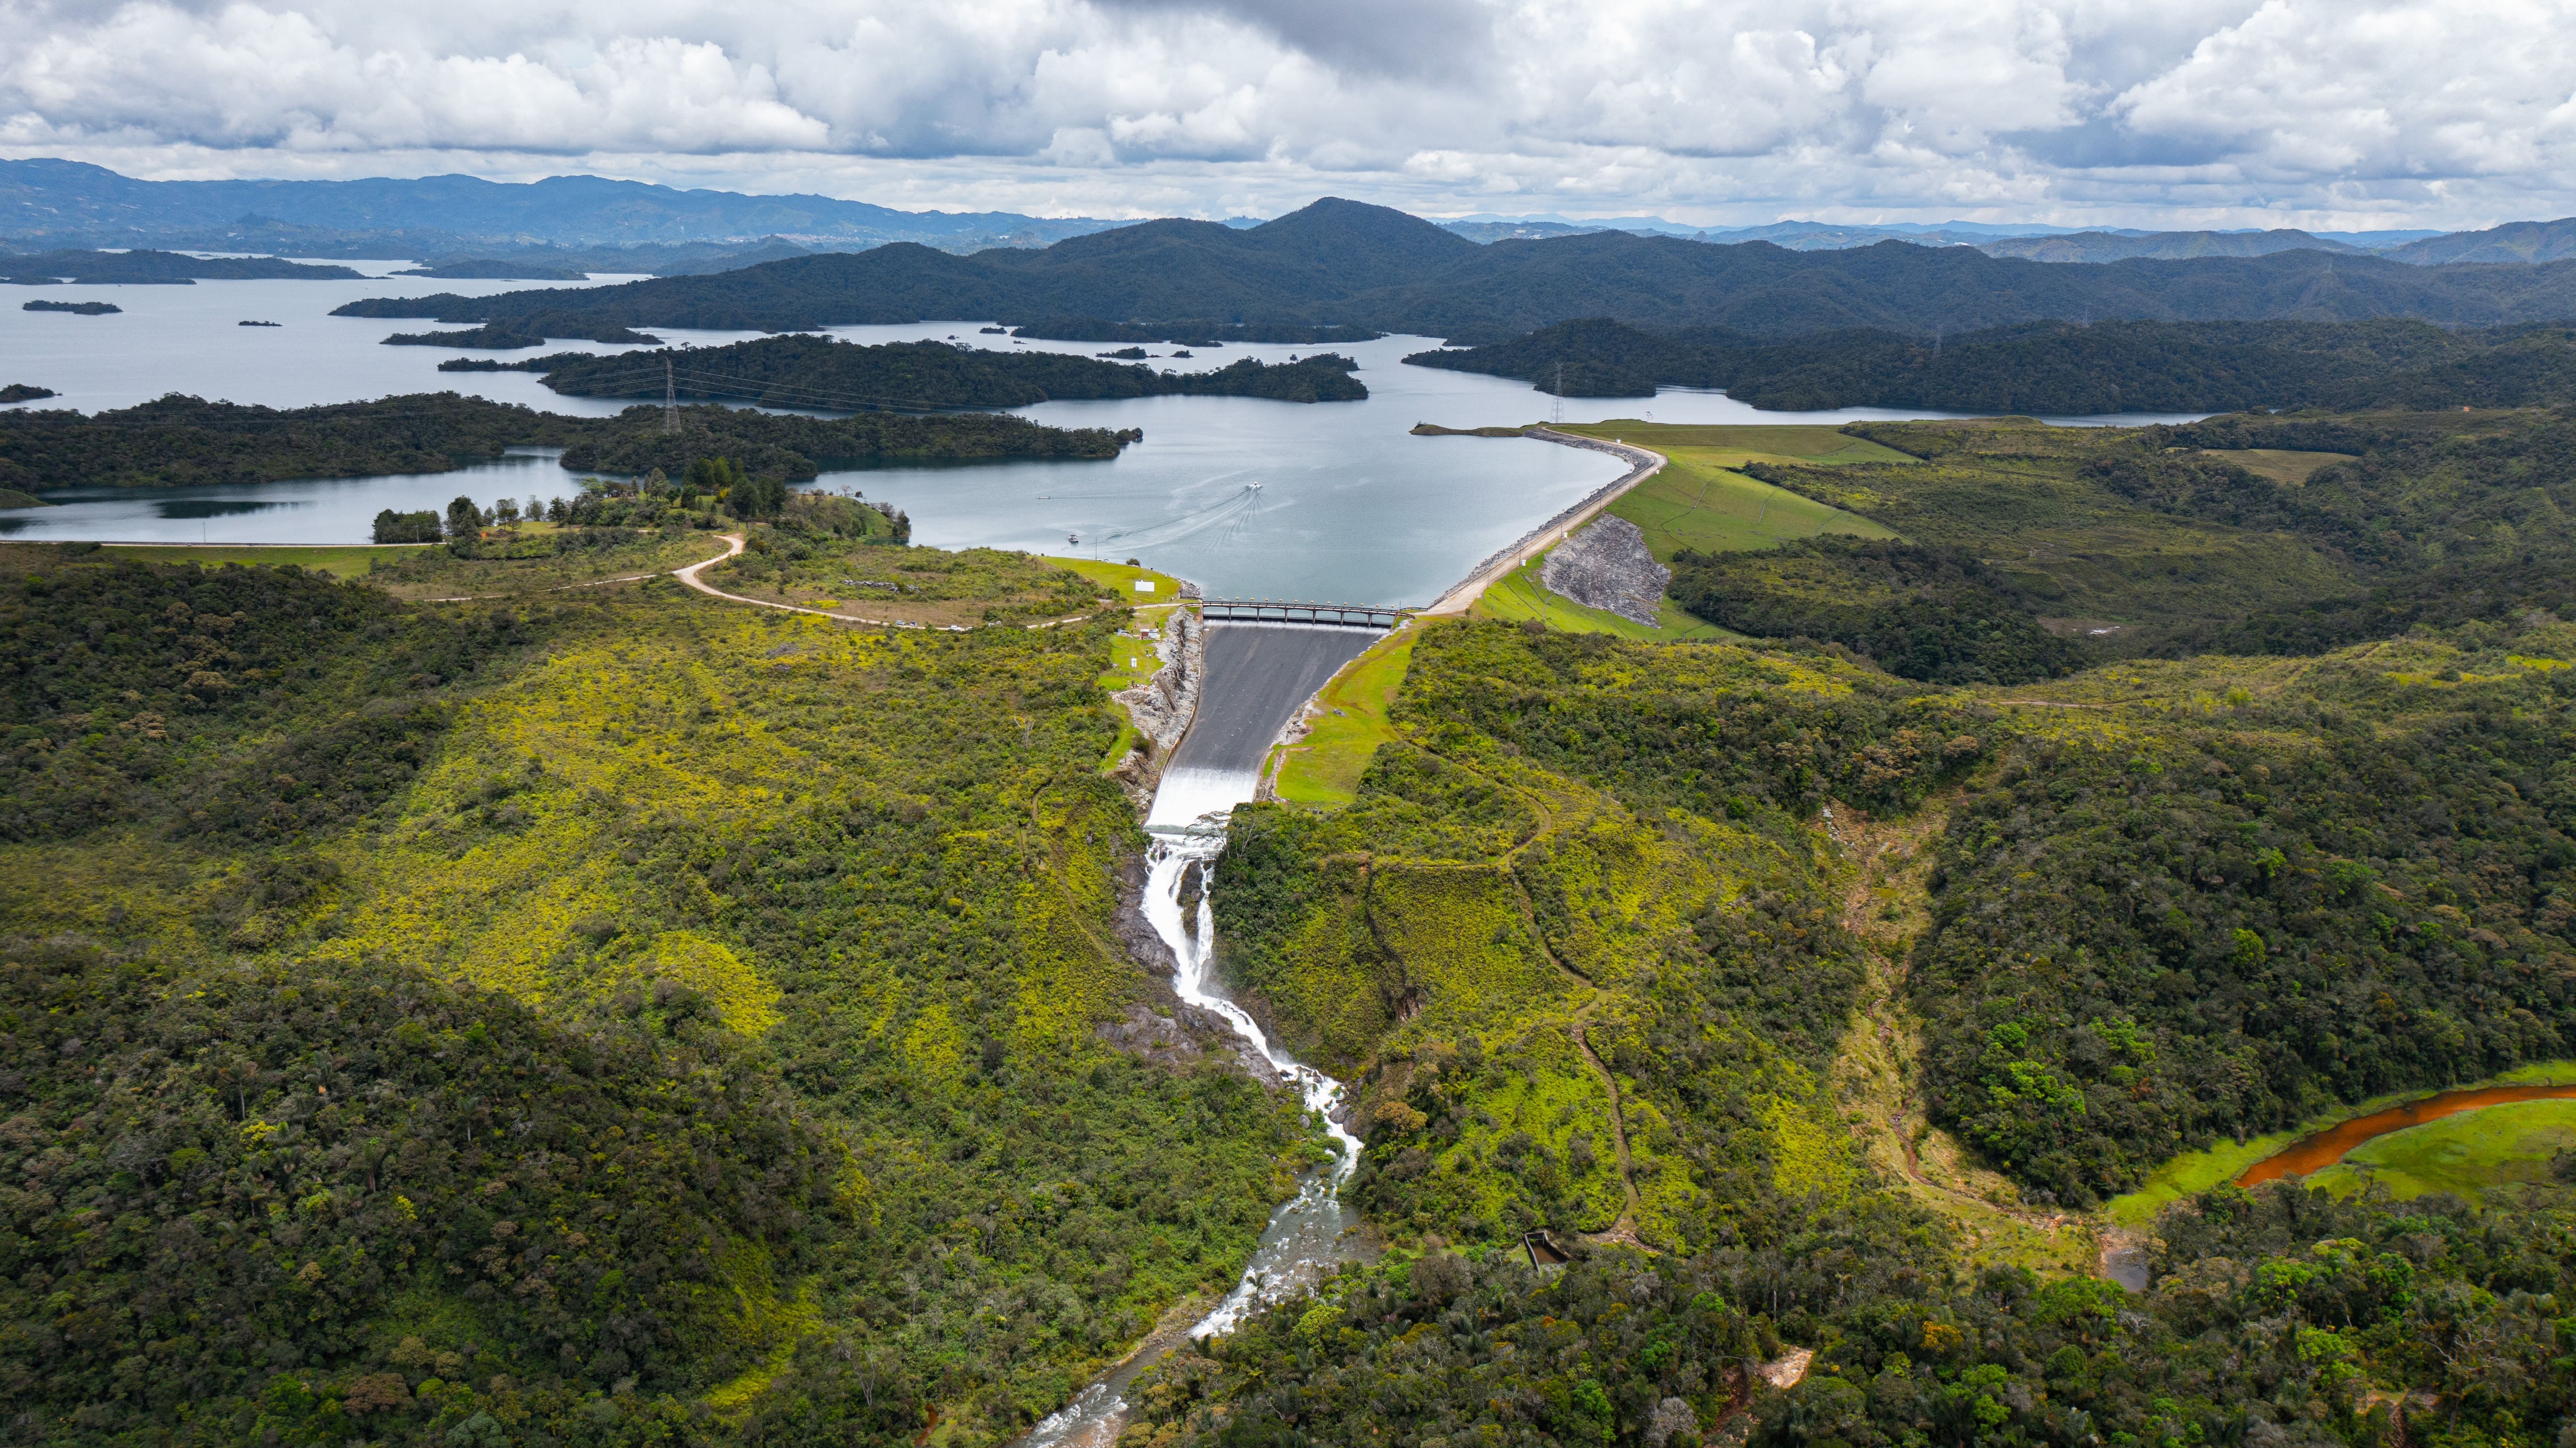
[[[1327,198],[1249,229],[1144,222],[1038,250],[974,255],[896,242],[716,276],[569,294],[394,296],[343,312],[440,322],[580,312],[626,327],[744,330],[1193,317],[1476,343],[1577,317],[1762,338],[1837,327],[1942,335],[2043,319],[2506,325],[2576,317],[2576,260],[2406,265],[2300,247],[2254,258],[2050,265],[1978,247],[1878,242],[1795,252],[1631,232],[1476,245],[1404,211]]]

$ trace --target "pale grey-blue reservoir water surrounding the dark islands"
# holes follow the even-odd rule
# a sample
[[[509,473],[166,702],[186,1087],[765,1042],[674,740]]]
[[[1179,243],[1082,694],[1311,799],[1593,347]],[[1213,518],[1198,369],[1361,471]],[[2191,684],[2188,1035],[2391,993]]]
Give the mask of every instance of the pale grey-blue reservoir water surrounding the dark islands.
[[[402,263],[358,263],[392,271]],[[28,381],[62,397],[36,407],[131,407],[170,392],[307,407],[404,392],[464,392],[549,412],[608,415],[626,402],[556,397],[528,374],[440,374],[448,348],[386,348],[389,332],[428,322],[330,317],[355,296],[430,291],[492,294],[513,281],[198,281],[196,286],[8,289],[15,301],[100,299],[113,317],[67,317],[0,307],[0,384]],[[245,319],[278,327],[242,327]],[[979,322],[835,327],[853,343],[956,338],[999,345]],[[755,332],[657,330],[670,343],[711,345]],[[1368,402],[1260,402],[1244,397],[1146,397],[1043,402],[1033,420],[1064,428],[1144,428],[1144,443],[1113,461],[1005,461],[886,466],[824,474],[817,487],[858,490],[912,515],[920,544],[1002,546],[1046,554],[1144,559],[1218,595],[1345,603],[1430,603],[1466,569],[1566,502],[1618,477],[1602,453],[1525,438],[1414,438],[1414,423],[1479,428],[1533,423],[1556,399],[1528,384],[1401,366],[1432,338],[1383,338],[1334,350],[1360,361]],[[595,343],[564,343],[592,353]],[[1105,343],[1025,343],[1100,353]],[[551,350],[551,348],[549,348]],[[1170,353],[1170,348],[1149,348]],[[1157,366],[1216,368],[1242,356],[1285,361],[1314,348],[1226,345]],[[518,353],[528,356],[528,353]],[[1569,423],[1850,423],[1917,412],[1757,412],[1716,392],[1564,402]],[[2169,417],[2102,417],[2146,423]],[[466,495],[572,495],[577,479],[551,453],[531,451],[446,474],[317,479],[196,490],[64,490],[62,508],[0,513],[0,536],[23,541],[103,538],[165,544],[363,544],[379,510],[446,508]]]

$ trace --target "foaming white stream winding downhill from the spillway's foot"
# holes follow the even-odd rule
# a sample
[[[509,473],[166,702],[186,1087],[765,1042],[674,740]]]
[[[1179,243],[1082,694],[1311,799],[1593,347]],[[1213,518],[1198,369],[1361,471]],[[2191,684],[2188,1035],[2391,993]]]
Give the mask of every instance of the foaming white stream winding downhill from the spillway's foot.
[[[1218,770],[1172,770],[1154,791],[1154,809],[1146,832],[1154,837],[1149,855],[1151,873],[1144,886],[1144,915],[1154,933],[1172,946],[1180,969],[1172,989],[1190,1005],[1224,1015],[1234,1031],[1270,1062],[1283,1077],[1296,1082],[1306,1108],[1324,1116],[1342,1157],[1309,1172],[1298,1193],[1270,1214],[1244,1275],[1206,1317],[1188,1332],[1159,1332],[1136,1348],[1128,1360],[1084,1386],[1069,1404],[1028,1430],[1015,1448],[1110,1448],[1126,1422],[1126,1389],[1136,1373],[1151,1368],[1188,1337],[1231,1332],[1262,1301],[1273,1301],[1319,1281],[1332,1268],[1358,1257],[1360,1216],[1342,1206],[1342,1183],[1360,1165],[1360,1139],[1350,1134],[1334,1110],[1342,1105],[1342,1082],[1298,1062],[1278,1049],[1257,1020],[1224,995],[1213,976],[1216,910],[1208,899],[1208,871],[1216,853],[1226,848],[1226,814],[1252,799],[1255,776]],[[1182,886],[1190,871],[1198,876],[1198,910],[1182,910]]]

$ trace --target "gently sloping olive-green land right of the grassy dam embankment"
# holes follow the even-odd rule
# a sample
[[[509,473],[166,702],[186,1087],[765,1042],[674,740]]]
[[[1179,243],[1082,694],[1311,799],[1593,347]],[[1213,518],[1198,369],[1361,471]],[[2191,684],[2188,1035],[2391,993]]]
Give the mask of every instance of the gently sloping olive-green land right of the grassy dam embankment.
[[[2411,624],[2512,621],[2566,608],[2576,508],[2563,412],[2239,415],[2184,428],[2035,420],[1855,423],[1917,461],[1747,461],[1762,482],[1847,508],[1904,538],[1968,549],[2007,608],[2087,639],[2094,657],[2295,654]],[[1726,559],[1752,577],[1775,564]],[[1762,634],[1852,642],[1839,621],[1883,590],[1852,554],[1811,551],[1795,590],[1765,585]],[[1842,577],[1829,577],[1842,569]],[[1695,577],[1695,575],[1692,575]],[[1713,621],[1752,624],[1754,590]],[[1806,603],[1801,603],[1801,598]],[[1888,621],[1904,624],[1901,611]],[[1731,624],[1734,626],[1734,624]],[[1857,644],[1855,644],[1857,647]],[[1994,675],[2004,678],[2004,675]],[[2027,675],[2025,675],[2027,678]]]

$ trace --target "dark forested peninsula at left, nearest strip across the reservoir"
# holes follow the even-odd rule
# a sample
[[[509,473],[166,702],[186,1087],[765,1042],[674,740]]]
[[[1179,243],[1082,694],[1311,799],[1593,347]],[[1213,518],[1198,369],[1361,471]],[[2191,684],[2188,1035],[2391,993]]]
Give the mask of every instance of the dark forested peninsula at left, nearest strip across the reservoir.
[[[732,456],[765,477],[809,479],[829,459],[1108,459],[1141,433],[1046,428],[994,412],[783,417],[732,407],[659,407],[562,417],[453,392],[245,407],[162,397],[111,412],[0,412],[0,487],[175,487],[289,477],[448,472],[513,446],[564,448],[567,469],[680,474]]]

